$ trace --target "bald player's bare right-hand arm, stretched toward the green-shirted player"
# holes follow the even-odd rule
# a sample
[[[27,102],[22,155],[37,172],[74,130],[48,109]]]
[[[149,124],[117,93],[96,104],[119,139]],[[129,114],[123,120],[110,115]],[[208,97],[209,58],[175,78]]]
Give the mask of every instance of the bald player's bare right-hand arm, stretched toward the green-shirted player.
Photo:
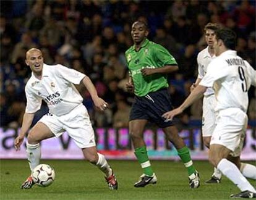
[[[97,109],[105,110],[108,107],[108,103],[104,101],[103,99],[98,97],[98,93],[96,91],[95,86],[93,85],[92,81],[89,77],[85,75],[85,78],[83,78],[83,85],[87,88],[88,92],[92,96],[93,103],[95,104]]]

